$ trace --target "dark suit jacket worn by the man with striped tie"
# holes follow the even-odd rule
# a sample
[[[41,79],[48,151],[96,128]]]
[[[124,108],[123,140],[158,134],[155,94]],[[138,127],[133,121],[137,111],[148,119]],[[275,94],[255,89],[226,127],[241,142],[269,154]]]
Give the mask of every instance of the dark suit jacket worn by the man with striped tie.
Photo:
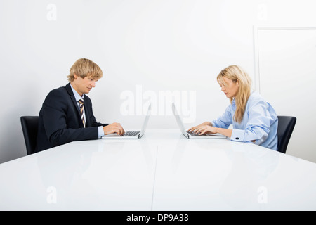
[[[98,139],[98,127],[108,124],[96,122],[91,100],[86,95],[84,96],[84,112],[86,114],[85,128],[70,83],[51,91],[39,111],[39,131],[35,152],[71,141]]]

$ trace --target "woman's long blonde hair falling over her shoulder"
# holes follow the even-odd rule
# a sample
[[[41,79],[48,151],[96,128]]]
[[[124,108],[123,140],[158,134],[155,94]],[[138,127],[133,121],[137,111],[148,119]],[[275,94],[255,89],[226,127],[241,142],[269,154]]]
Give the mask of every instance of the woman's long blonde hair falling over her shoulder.
[[[234,120],[238,123],[242,122],[242,117],[244,116],[244,110],[246,108],[246,103],[251,93],[251,78],[248,73],[244,71],[239,65],[230,65],[224,70],[220,71],[217,76],[218,84],[227,85],[223,79],[226,77],[231,79],[232,82],[239,83],[239,89],[235,96],[236,111],[234,115]],[[230,98],[230,103],[234,98]]]

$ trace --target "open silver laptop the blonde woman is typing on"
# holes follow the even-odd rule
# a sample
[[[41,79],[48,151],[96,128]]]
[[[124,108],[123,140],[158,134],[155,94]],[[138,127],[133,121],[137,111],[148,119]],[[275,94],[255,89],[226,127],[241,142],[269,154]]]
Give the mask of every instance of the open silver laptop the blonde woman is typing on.
[[[180,115],[178,114],[178,111],[176,110],[176,106],[174,103],[171,105],[173,115],[176,117],[176,121],[178,123],[178,126],[180,128],[180,131],[187,139],[227,139],[227,136],[224,136],[222,134],[195,134],[193,132],[187,132],[185,130],[185,127],[183,125],[183,122],[180,118]]]

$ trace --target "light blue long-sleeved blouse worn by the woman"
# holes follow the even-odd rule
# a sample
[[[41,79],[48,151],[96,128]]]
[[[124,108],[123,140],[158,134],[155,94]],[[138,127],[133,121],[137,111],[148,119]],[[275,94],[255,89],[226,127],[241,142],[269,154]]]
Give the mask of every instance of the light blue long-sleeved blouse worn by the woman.
[[[233,119],[235,111],[236,104],[233,100],[225,113],[212,121],[213,127],[228,129],[232,124],[230,140],[249,143],[256,140],[256,145],[277,150],[277,113],[260,94],[255,91],[251,93],[240,124]]]

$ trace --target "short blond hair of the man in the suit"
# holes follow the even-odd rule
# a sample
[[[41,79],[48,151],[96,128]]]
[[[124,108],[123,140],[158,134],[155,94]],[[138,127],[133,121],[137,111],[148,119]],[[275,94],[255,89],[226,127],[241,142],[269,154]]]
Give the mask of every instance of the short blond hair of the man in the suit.
[[[103,72],[100,67],[91,60],[86,58],[79,58],[74,65],[70,68],[70,75],[67,76],[69,82],[74,81],[74,74],[77,76],[92,77],[94,79],[100,79],[103,76]]]

